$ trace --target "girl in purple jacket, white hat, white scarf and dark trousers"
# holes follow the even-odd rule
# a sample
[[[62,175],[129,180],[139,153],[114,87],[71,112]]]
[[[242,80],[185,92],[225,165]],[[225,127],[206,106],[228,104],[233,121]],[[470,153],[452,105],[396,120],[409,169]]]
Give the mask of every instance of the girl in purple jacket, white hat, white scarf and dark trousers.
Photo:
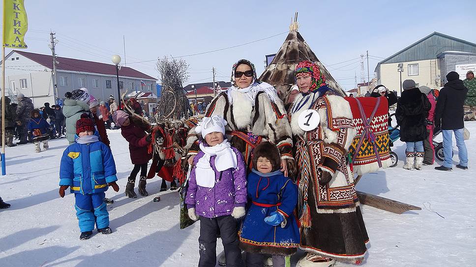
[[[238,149],[224,139],[227,122],[220,115],[205,117],[196,127],[206,144],[193,160],[185,204],[192,220],[200,219],[199,267],[215,266],[217,233],[228,267],[241,267],[238,218],[246,204],[246,167]]]

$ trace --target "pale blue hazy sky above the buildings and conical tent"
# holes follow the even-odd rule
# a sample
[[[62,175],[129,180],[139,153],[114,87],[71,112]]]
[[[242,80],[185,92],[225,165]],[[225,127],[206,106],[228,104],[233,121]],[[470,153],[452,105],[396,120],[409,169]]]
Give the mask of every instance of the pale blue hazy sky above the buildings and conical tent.
[[[111,55],[118,53],[121,64],[126,61],[128,67],[155,78],[158,57],[252,42],[183,57],[190,64],[184,86],[212,81],[212,67],[217,69],[216,80],[229,81],[240,58],[251,60],[259,76],[265,55],[279,50],[296,11],[299,32],[318,58],[331,65],[328,70],[345,89],[355,86],[355,74],[360,82],[360,54],[367,50],[372,78],[380,60],[434,31],[476,43],[475,2],[466,0],[25,0],[25,5],[28,52],[51,53],[48,40],[53,30],[59,56],[111,63]],[[270,36],[274,37],[258,41]],[[149,62],[134,63],[138,61]],[[366,59],[364,65],[367,77]]]

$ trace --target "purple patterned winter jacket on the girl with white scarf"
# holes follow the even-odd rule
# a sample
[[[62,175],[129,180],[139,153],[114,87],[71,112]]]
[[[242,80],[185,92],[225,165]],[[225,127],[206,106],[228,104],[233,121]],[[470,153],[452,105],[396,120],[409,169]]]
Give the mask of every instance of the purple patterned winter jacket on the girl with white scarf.
[[[234,147],[232,149],[237,154],[238,166],[236,169],[223,171],[221,177],[215,168],[215,156],[210,159],[211,168],[215,170],[214,187],[197,186],[196,168],[194,167],[190,173],[185,203],[187,208],[195,208],[195,213],[199,216],[214,218],[230,215],[235,207],[246,205],[246,166],[238,149]],[[200,151],[193,159],[193,164],[196,165],[204,155]]]

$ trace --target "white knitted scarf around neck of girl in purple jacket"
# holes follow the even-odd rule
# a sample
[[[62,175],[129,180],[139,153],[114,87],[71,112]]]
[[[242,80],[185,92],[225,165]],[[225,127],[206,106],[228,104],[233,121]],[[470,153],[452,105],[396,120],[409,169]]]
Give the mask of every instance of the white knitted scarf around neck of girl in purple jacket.
[[[210,158],[215,158],[215,169],[217,171],[228,170],[229,168],[236,169],[238,166],[237,154],[231,149],[231,144],[228,140],[223,140],[221,144],[215,146],[204,146],[200,144],[200,149],[205,155],[198,160],[195,166],[195,177],[197,185],[201,187],[215,186],[215,171],[211,168]]]

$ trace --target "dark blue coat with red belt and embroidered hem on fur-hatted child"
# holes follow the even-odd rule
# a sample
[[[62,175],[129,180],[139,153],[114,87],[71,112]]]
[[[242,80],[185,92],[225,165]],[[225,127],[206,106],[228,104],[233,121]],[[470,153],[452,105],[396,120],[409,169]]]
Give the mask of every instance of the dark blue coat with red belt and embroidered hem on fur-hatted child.
[[[294,254],[299,246],[298,223],[294,215],[298,203],[296,184],[282,172],[270,177],[251,172],[247,190],[251,205],[238,232],[240,247],[253,253]],[[276,211],[285,217],[285,227],[265,222],[265,217]]]

